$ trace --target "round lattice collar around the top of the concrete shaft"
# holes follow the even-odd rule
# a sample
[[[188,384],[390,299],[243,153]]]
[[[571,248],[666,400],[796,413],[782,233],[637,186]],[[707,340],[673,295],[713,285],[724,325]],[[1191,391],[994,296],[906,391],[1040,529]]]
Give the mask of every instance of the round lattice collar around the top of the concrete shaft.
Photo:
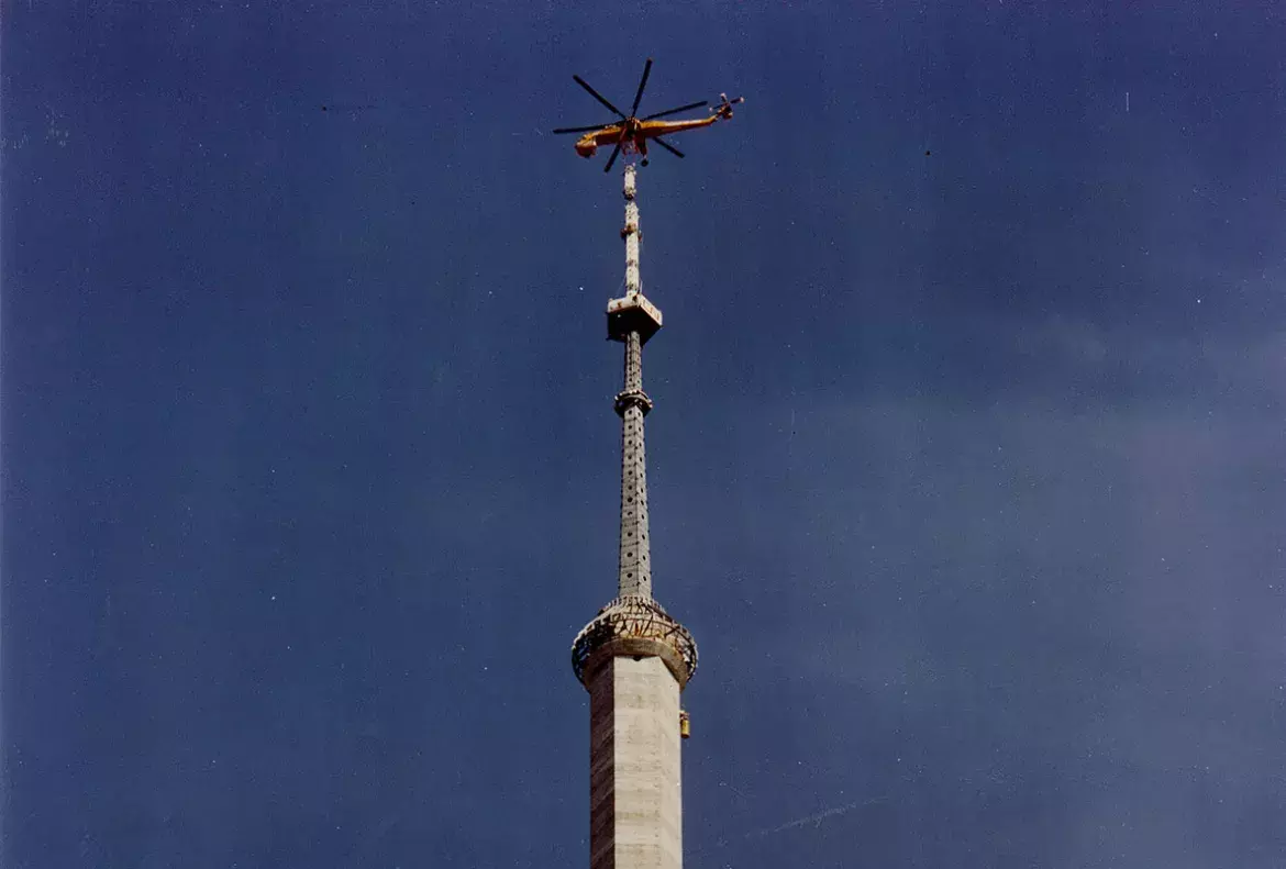
[[[617,654],[661,658],[680,688],[697,671],[697,643],[692,634],[651,596],[616,598],[581,629],[571,647],[576,679],[588,684],[586,675],[597,663]]]

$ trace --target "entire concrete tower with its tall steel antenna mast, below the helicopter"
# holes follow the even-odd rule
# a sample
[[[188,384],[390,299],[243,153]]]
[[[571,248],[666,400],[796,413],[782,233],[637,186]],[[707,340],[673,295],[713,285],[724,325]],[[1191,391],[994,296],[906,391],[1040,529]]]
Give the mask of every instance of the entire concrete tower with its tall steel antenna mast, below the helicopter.
[[[576,636],[572,668],[590,694],[590,869],[679,869],[679,694],[697,647],[652,598],[643,418],[643,345],[661,311],[639,287],[634,166],[625,167],[625,296],[607,305],[607,334],[625,345],[621,417],[621,539],[617,598]],[[682,724],[680,724],[682,721]]]

